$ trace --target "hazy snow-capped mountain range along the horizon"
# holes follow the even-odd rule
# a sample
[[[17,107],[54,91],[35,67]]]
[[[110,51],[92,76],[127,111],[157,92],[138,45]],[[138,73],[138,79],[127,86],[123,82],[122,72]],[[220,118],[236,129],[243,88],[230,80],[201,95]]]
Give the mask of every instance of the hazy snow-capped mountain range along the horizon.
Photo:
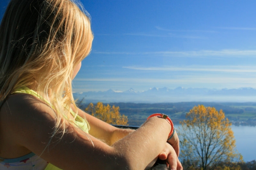
[[[75,99],[90,102],[256,102],[255,88],[208,89],[208,88],[150,88],[147,91],[90,91],[73,93]]]

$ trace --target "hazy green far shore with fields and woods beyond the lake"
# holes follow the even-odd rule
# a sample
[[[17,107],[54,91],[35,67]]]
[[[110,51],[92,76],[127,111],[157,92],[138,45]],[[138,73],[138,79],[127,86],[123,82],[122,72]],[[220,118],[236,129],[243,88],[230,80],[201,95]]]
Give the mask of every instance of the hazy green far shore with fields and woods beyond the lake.
[[[80,108],[84,109],[88,104],[82,101]],[[218,111],[222,109],[225,116],[235,126],[256,126],[256,102],[110,102],[108,104],[119,106],[120,113],[128,116],[128,124],[132,126],[140,126],[152,113],[165,113],[177,124],[186,119],[186,113],[197,105],[214,107]]]

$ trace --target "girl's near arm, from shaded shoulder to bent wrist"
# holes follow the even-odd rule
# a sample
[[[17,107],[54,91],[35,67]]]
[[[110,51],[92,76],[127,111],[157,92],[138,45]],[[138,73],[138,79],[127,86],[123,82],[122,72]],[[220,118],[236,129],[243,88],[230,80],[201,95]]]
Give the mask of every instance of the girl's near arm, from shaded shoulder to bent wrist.
[[[109,146],[68,125],[64,135],[55,134],[47,146],[55,126],[52,109],[28,94],[10,96],[6,103],[1,122],[5,122],[9,138],[17,146],[42,154],[43,159],[65,170],[145,169],[163,150],[171,130],[165,119],[152,117],[138,130]]]

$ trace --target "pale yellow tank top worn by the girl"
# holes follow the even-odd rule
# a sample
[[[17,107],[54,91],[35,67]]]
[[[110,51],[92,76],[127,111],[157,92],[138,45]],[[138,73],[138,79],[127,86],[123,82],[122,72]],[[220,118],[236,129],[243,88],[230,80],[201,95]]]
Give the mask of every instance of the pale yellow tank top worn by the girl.
[[[31,94],[35,97],[38,97],[39,99],[44,99],[37,92],[35,92],[27,87],[17,88],[17,89],[15,89],[15,91],[12,94],[17,94],[17,93]],[[44,99],[44,102],[46,102],[48,105],[51,105],[50,102],[47,101],[46,99]],[[70,113],[73,117],[76,116],[76,113],[73,112],[72,110],[70,111]],[[81,116],[79,116],[79,115],[76,116],[75,123],[82,130],[84,130],[84,132],[88,133],[89,130],[88,130],[87,121],[85,121]],[[61,169],[58,167],[55,167],[53,164],[49,163],[44,170],[61,170]]]

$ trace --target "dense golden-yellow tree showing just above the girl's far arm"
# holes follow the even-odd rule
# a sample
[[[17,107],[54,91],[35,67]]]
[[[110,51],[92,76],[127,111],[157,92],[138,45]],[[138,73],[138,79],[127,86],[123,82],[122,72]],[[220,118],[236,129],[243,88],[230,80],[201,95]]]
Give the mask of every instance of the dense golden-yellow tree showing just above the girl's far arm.
[[[98,102],[96,105],[90,103],[87,108],[85,108],[85,112],[111,125],[128,125],[127,116],[119,113],[118,106],[115,107],[113,105],[111,107],[109,104],[103,105],[102,102]]]

